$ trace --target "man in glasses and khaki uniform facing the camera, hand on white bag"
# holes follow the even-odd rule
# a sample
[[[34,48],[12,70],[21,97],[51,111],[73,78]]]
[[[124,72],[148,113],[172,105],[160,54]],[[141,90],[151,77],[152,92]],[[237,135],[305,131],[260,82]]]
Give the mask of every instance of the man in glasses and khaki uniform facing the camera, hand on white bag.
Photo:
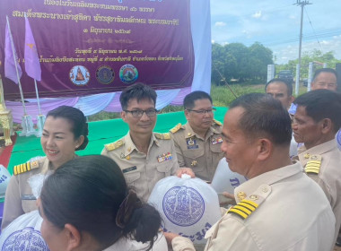
[[[146,202],[153,186],[163,177],[182,173],[194,177],[191,169],[179,169],[170,134],[153,133],[156,92],[136,83],[122,91],[119,101],[129,132],[117,142],[106,144],[101,154],[118,163],[127,185],[136,188],[138,197]]]

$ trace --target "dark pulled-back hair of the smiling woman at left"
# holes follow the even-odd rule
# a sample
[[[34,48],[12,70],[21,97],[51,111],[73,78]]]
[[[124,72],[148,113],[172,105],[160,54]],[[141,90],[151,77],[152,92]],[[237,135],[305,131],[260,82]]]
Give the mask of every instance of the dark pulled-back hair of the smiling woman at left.
[[[89,143],[89,130],[86,118],[80,109],[61,106],[50,110],[46,117],[62,117],[69,121],[72,124],[71,132],[74,134],[74,139],[78,139],[81,135],[84,136],[83,143],[76,148],[75,151],[85,149],[86,145]]]

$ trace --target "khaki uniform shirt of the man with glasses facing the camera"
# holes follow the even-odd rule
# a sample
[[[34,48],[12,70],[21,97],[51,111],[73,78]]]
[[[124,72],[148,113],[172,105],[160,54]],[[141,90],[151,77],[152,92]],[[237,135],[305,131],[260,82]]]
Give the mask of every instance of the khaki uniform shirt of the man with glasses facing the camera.
[[[115,143],[106,144],[101,154],[115,160],[122,169],[127,186],[134,186],[137,196],[144,202],[148,201],[160,179],[174,175],[179,169],[169,134],[153,133],[147,155],[138,151],[129,133]]]

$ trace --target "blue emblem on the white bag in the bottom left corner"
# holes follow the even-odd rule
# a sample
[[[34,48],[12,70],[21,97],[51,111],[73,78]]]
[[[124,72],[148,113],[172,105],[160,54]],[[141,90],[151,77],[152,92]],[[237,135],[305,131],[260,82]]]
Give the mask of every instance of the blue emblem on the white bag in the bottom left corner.
[[[27,227],[13,232],[4,240],[2,251],[49,251],[39,231]]]

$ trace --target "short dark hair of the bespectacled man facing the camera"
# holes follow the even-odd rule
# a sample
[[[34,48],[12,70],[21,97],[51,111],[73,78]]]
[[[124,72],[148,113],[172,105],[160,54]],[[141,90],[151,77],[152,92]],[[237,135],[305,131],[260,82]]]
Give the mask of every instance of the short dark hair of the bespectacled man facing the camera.
[[[119,102],[121,103],[122,109],[127,109],[128,102],[132,99],[136,99],[137,102],[140,100],[153,100],[155,106],[156,96],[156,91],[150,86],[145,85],[142,82],[136,82],[122,91]]]

